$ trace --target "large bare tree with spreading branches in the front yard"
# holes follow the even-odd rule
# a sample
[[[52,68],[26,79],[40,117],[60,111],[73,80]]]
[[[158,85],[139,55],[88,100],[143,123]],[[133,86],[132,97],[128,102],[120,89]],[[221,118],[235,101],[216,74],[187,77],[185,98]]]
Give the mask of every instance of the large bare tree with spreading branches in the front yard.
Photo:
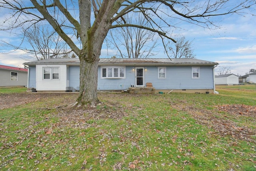
[[[78,105],[95,105],[98,102],[98,61],[110,29],[142,28],[157,33],[163,42],[165,39],[176,42],[167,30],[181,21],[208,28],[214,26],[212,17],[248,13],[255,3],[255,0],[232,3],[229,0],[0,0],[0,9],[11,11],[6,14],[1,30],[48,22],[80,59]],[[137,12],[148,20],[148,26],[125,22],[123,16]]]

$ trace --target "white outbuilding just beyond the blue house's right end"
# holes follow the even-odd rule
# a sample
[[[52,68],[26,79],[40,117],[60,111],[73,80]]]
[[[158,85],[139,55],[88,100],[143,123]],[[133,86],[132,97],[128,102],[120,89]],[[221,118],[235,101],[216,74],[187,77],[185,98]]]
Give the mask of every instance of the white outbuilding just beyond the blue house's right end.
[[[238,76],[234,74],[225,74],[215,76],[215,85],[235,85],[239,84]]]

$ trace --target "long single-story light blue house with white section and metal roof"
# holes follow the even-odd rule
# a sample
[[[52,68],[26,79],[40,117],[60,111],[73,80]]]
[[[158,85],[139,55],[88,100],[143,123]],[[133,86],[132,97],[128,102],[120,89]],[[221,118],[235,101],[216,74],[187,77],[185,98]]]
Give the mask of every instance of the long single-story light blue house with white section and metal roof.
[[[79,89],[78,58],[52,58],[26,62],[28,88],[37,91]],[[156,91],[214,92],[216,62],[198,59],[100,58],[98,90],[126,90],[151,85]],[[148,84],[147,84],[148,83]]]

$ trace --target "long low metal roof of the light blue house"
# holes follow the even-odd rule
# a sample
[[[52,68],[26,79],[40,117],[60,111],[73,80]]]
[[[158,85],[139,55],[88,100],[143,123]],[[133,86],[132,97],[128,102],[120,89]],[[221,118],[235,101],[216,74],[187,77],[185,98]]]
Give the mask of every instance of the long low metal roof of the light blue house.
[[[36,64],[73,64],[79,65],[79,58],[51,58],[26,62],[24,65]],[[99,65],[218,65],[217,62],[190,58],[100,58]]]

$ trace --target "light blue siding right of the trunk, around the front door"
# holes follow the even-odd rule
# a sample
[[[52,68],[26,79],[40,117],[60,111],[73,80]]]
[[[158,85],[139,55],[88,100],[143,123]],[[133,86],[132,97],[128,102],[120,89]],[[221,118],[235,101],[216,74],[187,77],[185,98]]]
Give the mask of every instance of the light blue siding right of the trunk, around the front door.
[[[136,66],[140,67],[140,66]],[[125,79],[102,79],[100,66],[98,67],[98,90],[122,90],[135,85],[134,66],[126,66]],[[164,66],[166,78],[158,79],[158,66],[143,66],[147,68],[144,82],[152,83],[156,89],[214,89],[213,66],[199,66],[200,78],[192,79],[192,66]]]

